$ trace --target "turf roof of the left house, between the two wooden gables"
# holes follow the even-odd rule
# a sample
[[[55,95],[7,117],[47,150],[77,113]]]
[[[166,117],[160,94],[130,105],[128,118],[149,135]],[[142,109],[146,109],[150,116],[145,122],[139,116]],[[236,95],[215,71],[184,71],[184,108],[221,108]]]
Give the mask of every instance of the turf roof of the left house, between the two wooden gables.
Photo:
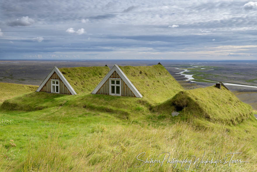
[[[72,88],[80,93],[91,93],[110,71],[109,67],[65,67],[59,68]]]

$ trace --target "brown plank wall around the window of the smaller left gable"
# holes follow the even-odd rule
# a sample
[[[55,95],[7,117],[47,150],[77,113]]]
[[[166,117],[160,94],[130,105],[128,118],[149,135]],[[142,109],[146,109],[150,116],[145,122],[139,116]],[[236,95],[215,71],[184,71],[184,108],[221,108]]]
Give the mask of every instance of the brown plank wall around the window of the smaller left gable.
[[[51,93],[51,79],[59,79],[59,93],[60,94],[71,94],[59,76],[54,72],[53,75],[48,79],[46,84],[41,88],[40,91]]]

